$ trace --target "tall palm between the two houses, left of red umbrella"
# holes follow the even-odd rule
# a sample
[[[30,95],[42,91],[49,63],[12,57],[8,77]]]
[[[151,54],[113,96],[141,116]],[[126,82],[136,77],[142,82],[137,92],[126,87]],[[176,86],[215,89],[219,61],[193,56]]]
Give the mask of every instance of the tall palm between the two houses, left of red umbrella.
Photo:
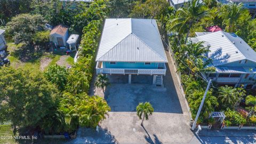
[[[208,10],[206,10],[204,3],[202,3],[200,0],[188,1],[185,7],[177,10],[178,18],[171,21],[171,29],[178,31],[179,34],[187,31],[187,36],[185,39],[186,44],[188,35],[190,33],[190,28],[199,19],[205,17],[207,12]]]

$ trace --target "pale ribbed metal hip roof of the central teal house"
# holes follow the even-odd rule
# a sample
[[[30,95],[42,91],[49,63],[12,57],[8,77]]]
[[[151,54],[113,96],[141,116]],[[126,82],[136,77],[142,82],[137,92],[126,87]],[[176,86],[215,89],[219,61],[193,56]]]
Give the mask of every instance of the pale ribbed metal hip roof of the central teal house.
[[[106,19],[96,61],[167,62],[156,20]]]

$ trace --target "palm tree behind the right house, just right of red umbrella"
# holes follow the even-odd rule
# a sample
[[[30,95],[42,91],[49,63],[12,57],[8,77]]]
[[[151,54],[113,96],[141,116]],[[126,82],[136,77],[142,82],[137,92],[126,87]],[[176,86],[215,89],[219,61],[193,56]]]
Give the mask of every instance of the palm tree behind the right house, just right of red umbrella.
[[[227,25],[227,31],[229,33],[233,33],[235,31],[235,24],[239,17],[243,15],[244,5],[239,3],[229,3],[227,5],[223,5],[222,12],[220,12],[220,17],[223,18],[225,24]]]

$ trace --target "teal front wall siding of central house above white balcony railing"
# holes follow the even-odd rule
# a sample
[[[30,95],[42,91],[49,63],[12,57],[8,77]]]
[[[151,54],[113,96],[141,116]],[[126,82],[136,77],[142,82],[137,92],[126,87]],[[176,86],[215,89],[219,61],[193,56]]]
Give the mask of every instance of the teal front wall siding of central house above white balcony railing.
[[[103,62],[103,68],[157,69],[158,63],[151,62],[150,65],[145,65],[145,62],[116,62],[116,64],[110,64],[110,62]]]

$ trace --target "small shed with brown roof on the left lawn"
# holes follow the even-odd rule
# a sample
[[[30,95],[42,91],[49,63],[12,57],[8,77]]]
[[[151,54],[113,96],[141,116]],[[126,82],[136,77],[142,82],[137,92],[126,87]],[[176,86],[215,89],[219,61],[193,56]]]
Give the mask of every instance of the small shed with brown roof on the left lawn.
[[[66,42],[68,40],[68,27],[63,25],[55,26],[51,30],[50,35],[50,40],[56,47],[66,46]]]

